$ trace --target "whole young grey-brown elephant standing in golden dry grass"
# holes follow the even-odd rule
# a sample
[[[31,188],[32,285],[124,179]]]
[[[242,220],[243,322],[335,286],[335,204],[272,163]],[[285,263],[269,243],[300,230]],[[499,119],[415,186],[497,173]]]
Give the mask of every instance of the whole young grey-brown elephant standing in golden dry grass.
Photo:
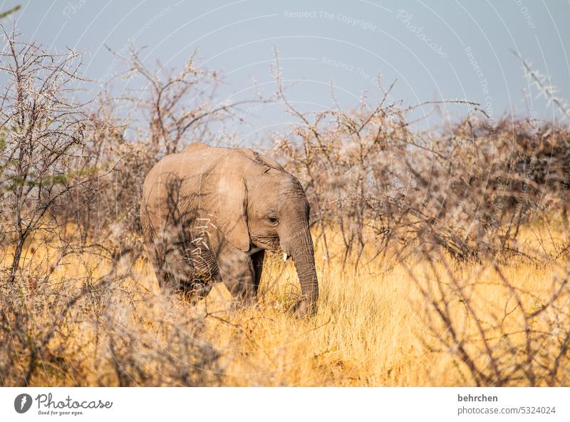
[[[316,312],[309,202],[293,175],[249,149],[193,143],[162,158],[142,187],[140,221],[161,287],[202,299],[224,282],[256,301],[266,250],[292,257],[299,316]]]

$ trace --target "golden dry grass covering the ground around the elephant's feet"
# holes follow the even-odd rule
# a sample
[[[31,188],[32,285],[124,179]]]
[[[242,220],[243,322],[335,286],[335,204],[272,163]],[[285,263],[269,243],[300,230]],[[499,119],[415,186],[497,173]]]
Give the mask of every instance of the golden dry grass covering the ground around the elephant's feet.
[[[528,245],[537,242],[537,230],[527,230],[523,238]],[[561,235],[562,236],[562,235]],[[45,257],[48,249],[36,249],[36,259]],[[411,259],[411,258],[410,258]],[[385,261],[386,262],[386,261]],[[388,262],[389,263],[389,262]],[[123,263],[127,265],[128,263]],[[435,289],[440,277],[445,285],[452,279],[470,289],[472,304],[482,321],[494,315],[505,317],[503,328],[510,333],[511,341],[522,347],[525,337],[517,334],[522,319],[516,313],[509,314],[514,304],[512,293],[501,282],[506,277],[514,287],[532,292],[525,297],[529,307],[547,301],[551,295],[552,279],[564,277],[561,262],[537,266],[532,262],[512,262],[494,269],[492,262],[480,264],[432,264],[415,259],[408,262],[383,265],[373,261],[356,274],[353,267],[341,266],[340,260],[326,261],[317,256],[318,277],[321,283],[319,312],[312,319],[298,320],[288,312],[291,298],[299,292],[294,266],[279,259],[266,259],[266,270],[261,284],[259,306],[252,309],[236,309],[229,293],[221,284],[214,287],[209,296],[197,307],[190,307],[174,298],[160,294],[152,268],[139,259],[128,268],[120,286],[115,285],[110,294],[115,297],[108,313],[115,315],[113,332],[117,324],[125,333],[144,337],[145,341],[125,356],[138,362],[145,371],[160,372],[160,381],[152,377],[138,379],[130,374],[128,364],[121,364],[120,371],[129,378],[125,385],[179,385],[177,374],[164,376],[167,369],[180,373],[187,366],[199,365],[180,356],[180,337],[172,337],[172,331],[180,329],[196,341],[211,344],[219,354],[217,365],[207,361],[207,376],[195,380],[199,385],[226,386],[465,386],[475,385],[470,371],[453,349],[441,349],[437,340],[437,321],[433,309],[418,289],[421,286]],[[92,276],[105,274],[105,264],[94,257],[71,257],[56,268],[53,279],[82,279],[88,269]],[[447,272],[450,270],[450,274]],[[127,273],[123,268],[123,273]],[[128,298],[129,304],[125,302]],[[566,312],[568,297],[563,298]],[[465,304],[455,300],[451,313],[457,331],[462,332],[465,343],[470,344],[472,354],[479,356],[484,366],[485,356],[473,353],[482,349],[477,339],[475,319],[465,314]],[[505,309],[507,312],[505,313]],[[109,341],[101,336],[98,327],[89,319],[85,307],[73,310],[73,317],[61,329],[72,341],[61,349],[58,334],[48,348],[56,350],[62,359],[81,362],[62,377],[47,369],[40,369],[33,385],[119,385],[116,365],[118,353],[109,351]],[[93,309],[93,312],[96,312]],[[204,318],[205,317],[205,318]],[[50,315],[44,315],[50,321]],[[547,326],[548,315],[544,316]],[[205,321],[199,338],[192,321]],[[567,324],[567,320],[565,322]],[[489,327],[490,327],[489,323]],[[447,327],[440,327],[445,330]],[[539,328],[539,327],[535,327]],[[62,332],[63,332],[62,331]],[[500,338],[493,339],[489,328],[491,347],[497,351]],[[441,336],[441,334],[438,334]],[[146,344],[146,346],[145,346]],[[125,348],[127,344],[118,347]],[[538,346],[538,345],[537,345]],[[555,342],[543,344],[541,349],[554,356]],[[66,356],[67,355],[67,356]],[[71,356],[73,355],[73,356]],[[160,356],[161,359],[156,359]],[[172,366],[165,369],[164,356],[173,356]],[[514,366],[517,354],[512,357]],[[537,358],[538,359],[538,358]],[[488,364],[488,363],[487,363]],[[198,368],[200,369],[200,368]],[[119,372],[120,373],[120,372]],[[562,385],[570,384],[570,364],[566,356],[559,368]],[[566,376],[564,376],[566,374]],[[540,375],[538,375],[540,376]],[[124,381],[124,380],[123,380]],[[516,382],[512,383],[517,385]],[[545,384],[540,380],[537,384]],[[520,385],[527,385],[520,381]]]

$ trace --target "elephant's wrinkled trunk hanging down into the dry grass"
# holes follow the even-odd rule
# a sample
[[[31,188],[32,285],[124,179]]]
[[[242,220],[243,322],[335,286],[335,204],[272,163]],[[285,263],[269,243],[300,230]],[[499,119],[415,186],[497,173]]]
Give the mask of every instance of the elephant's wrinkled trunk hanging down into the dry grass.
[[[296,306],[296,314],[299,316],[312,315],[316,312],[318,280],[316,278],[313,240],[311,239],[309,225],[306,222],[299,222],[286,236],[286,239],[287,241],[283,249],[291,254],[295,262],[303,296]]]

